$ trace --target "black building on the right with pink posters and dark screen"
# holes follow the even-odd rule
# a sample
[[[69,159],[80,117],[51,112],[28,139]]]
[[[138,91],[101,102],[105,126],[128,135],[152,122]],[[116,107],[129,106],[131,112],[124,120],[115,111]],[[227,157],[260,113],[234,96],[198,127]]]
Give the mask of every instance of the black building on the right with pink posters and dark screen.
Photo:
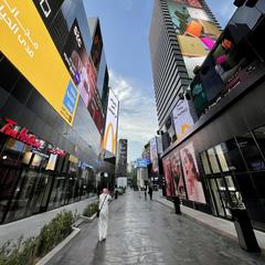
[[[227,220],[230,208],[245,208],[263,231],[264,12],[261,0],[235,11],[186,91],[189,130],[162,155],[168,195]],[[174,119],[177,135],[180,112]]]

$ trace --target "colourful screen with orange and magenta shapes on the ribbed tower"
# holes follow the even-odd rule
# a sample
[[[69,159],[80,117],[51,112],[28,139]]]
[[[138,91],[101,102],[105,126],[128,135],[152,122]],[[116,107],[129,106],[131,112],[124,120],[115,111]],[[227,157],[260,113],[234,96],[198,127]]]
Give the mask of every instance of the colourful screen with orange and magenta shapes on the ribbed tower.
[[[199,0],[168,0],[168,9],[189,77],[215,44],[220,30]]]

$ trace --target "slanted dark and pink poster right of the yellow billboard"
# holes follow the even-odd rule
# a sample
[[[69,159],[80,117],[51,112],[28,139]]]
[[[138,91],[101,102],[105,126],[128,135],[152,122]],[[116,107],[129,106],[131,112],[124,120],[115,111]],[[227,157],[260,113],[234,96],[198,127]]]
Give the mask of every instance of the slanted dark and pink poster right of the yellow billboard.
[[[62,56],[85,106],[98,131],[103,135],[104,115],[97,89],[97,73],[92,57],[86,52],[76,19],[71,28]]]

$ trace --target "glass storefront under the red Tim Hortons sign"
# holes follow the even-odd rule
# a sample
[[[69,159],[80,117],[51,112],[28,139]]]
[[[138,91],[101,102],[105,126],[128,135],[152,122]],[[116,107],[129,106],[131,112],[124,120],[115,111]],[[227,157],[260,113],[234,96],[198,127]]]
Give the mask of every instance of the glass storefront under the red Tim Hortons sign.
[[[89,198],[95,173],[86,162],[15,121],[0,128],[0,222],[8,223]]]

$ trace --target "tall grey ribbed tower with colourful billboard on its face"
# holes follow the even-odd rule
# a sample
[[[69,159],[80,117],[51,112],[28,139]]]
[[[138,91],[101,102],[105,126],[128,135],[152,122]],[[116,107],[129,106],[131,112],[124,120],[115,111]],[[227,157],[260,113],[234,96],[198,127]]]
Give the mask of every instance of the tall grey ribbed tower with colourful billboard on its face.
[[[189,107],[179,97],[220,33],[205,1],[155,1],[149,42],[159,130],[168,137],[167,146],[189,129],[191,120],[174,132],[174,117]]]

